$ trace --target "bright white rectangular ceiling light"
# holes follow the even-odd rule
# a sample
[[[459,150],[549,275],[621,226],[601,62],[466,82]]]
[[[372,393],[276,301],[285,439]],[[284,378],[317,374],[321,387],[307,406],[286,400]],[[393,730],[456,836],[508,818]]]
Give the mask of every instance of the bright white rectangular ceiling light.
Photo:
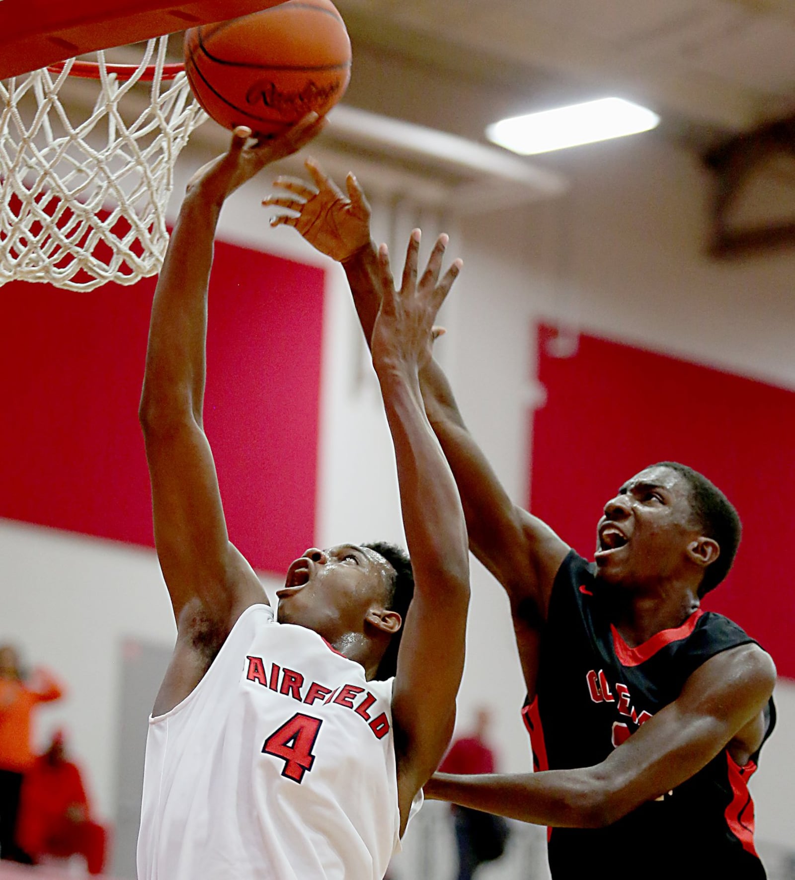
[[[531,156],[612,137],[637,135],[658,124],[659,116],[645,107],[622,98],[602,98],[504,119],[486,128],[486,136],[501,147]]]

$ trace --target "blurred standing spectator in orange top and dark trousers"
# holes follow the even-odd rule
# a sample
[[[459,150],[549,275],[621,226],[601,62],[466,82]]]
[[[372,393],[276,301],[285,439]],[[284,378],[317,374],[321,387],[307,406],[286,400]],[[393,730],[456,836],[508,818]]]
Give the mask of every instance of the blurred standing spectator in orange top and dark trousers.
[[[0,645],[0,859],[30,862],[18,847],[14,830],[23,774],[35,761],[31,715],[39,703],[58,700],[62,693],[47,671],[38,669],[26,677],[17,650]]]

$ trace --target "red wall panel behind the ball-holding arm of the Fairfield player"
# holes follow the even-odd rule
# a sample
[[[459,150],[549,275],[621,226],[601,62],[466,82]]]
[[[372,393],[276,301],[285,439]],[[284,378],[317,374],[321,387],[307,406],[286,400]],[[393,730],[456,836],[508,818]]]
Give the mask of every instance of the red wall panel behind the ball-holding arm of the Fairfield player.
[[[0,517],[151,546],[137,407],[154,287],[0,289]],[[323,287],[319,268],[217,242],[204,423],[230,537],[270,571],[313,544]]]

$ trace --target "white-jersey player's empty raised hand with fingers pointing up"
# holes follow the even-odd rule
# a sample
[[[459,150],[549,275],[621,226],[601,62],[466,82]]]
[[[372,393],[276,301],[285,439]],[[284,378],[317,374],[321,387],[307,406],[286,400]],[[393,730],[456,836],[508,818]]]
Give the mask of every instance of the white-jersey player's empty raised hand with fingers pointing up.
[[[394,288],[386,245],[379,248],[381,305],[372,330],[372,363],[376,370],[419,373],[431,362],[433,341],[444,331],[434,326],[437,312],[458,277],[461,260],[454,260],[439,280],[448,238],[440,235],[428,266],[417,282],[421,233],[411,233],[400,290]]]

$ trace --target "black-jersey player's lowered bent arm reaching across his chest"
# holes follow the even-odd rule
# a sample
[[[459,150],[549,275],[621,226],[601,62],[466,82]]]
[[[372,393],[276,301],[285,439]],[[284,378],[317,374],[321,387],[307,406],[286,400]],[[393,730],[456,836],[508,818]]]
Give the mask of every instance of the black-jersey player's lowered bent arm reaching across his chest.
[[[743,645],[712,657],[680,696],[593,767],[535,774],[438,774],[428,797],[508,818],[570,828],[611,825],[665,796],[728,748],[740,766],[762,744],[776,683],[770,657]]]

